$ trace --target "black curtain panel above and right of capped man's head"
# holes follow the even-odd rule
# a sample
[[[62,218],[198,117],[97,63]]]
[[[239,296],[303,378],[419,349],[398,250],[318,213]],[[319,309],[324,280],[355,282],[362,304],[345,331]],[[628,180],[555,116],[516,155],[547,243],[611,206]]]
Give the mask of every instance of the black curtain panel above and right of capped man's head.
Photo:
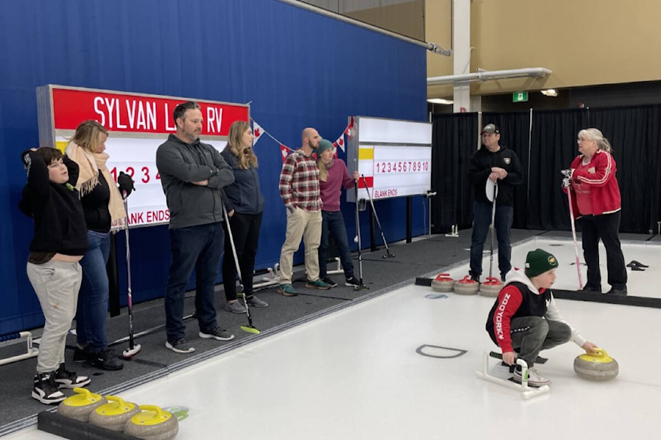
[[[515,111],[509,113],[485,112],[482,114],[482,125],[496,124],[501,131],[499,144],[511,148],[523,165],[523,184],[514,188],[514,217],[512,228],[528,229],[527,226],[527,185],[528,144],[530,140],[530,111]]]

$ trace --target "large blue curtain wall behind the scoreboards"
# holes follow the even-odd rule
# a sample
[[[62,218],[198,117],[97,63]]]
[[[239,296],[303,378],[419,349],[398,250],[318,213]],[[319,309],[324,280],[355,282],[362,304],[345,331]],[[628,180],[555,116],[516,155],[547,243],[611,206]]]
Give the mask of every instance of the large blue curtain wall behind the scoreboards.
[[[251,115],[287,146],[314,126],[335,140],[347,116],[426,119],[426,51],[377,32],[275,0],[25,0],[0,14],[0,334],[43,325],[25,276],[32,221],[17,209],[25,183],[19,154],[39,142],[35,89],[45,84],[251,102]],[[277,191],[280,148],[256,146],[266,197],[257,267],[279,259],[286,214]],[[344,198],[343,198],[344,199]],[[405,236],[406,201],[378,201],[389,241]],[[421,197],[413,234],[426,232]],[[354,205],[343,206],[348,235]],[[361,215],[368,230],[368,216]],[[123,235],[117,237],[125,292]],[[169,268],[167,227],[131,234],[137,301],[163,295]],[[302,261],[297,253],[296,263]],[[123,295],[125,296],[125,295]]]

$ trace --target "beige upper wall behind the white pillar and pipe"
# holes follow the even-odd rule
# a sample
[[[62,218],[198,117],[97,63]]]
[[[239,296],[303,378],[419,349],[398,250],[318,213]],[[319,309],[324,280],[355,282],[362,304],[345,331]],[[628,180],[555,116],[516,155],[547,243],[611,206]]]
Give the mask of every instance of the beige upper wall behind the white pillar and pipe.
[[[450,2],[426,0],[427,40],[441,46],[452,29]],[[474,0],[470,4],[474,47],[470,72],[523,67],[553,71],[545,80],[473,83],[472,94],[661,79],[660,0]],[[428,76],[452,75],[452,61],[447,58],[429,54]],[[429,96],[452,96],[452,87],[430,87]]]

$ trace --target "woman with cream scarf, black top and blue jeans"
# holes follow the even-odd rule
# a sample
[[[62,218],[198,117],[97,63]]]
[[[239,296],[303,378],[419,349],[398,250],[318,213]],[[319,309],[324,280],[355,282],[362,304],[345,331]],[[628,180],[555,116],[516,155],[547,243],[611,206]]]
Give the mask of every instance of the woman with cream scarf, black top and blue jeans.
[[[106,162],[108,131],[94,120],[81,122],[65,153],[80,168],[76,189],[81,194],[89,247],[81,260],[83,282],[76,312],[74,362],[88,361],[103,370],[122,369],[123,362],[108,348],[108,275],[111,230],[123,228],[126,212]]]

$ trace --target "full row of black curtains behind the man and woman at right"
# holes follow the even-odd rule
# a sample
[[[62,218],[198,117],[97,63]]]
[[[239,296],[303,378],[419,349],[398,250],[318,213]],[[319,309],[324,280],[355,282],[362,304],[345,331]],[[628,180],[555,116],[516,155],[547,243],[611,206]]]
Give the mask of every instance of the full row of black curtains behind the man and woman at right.
[[[472,225],[468,161],[479,142],[477,113],[434,115],[432,233]],[[613,146],[622,195],[620,232],[647,234],[661,221],[661,105],[483,113],[482,125],[501,130],[501,144],[523,164],[524,181],[514,190],[513,228],[569,230],[567,196],[560,170],[578,155],[578,131],[595,127]],[[580,228],[580,222],[578,222]]]

